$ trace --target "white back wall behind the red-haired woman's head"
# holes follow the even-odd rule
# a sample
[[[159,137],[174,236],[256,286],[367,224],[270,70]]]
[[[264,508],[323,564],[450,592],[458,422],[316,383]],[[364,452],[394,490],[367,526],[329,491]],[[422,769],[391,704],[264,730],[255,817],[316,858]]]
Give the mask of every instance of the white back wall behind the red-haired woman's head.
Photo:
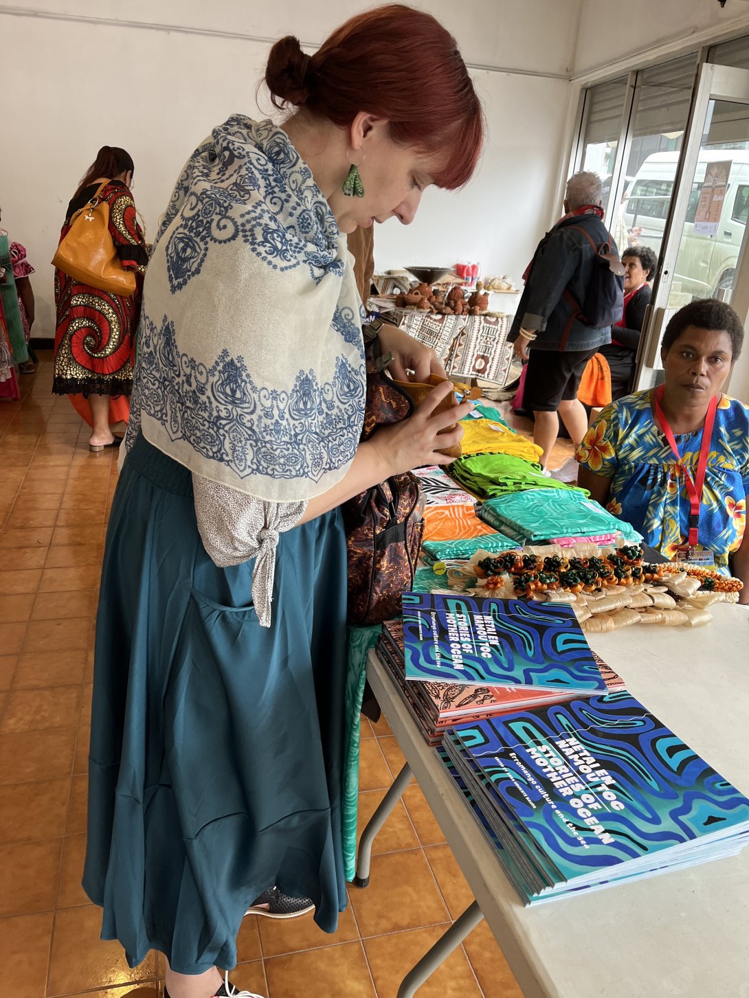
[[[415,5],[442,19],[473,66],[564,76],[579,4]],[[26,245],[37,268],[35,335],[54,330],[49,260],[68,201],[102,144],[133,156],[135,200],[153,236],[180,168],[211,127],[237,111],[259,114],[256,87],[268,40],[292,31],[319,44],[368,6],[361,0],[42,0],[34,5],[39,16],[24,17],[16,16],[20,8],[0,4],[6,93],[17,94],[23,81],[23,99],[6,101],[3,110],[0,205],[4,228]],[[168,25],[179,30],[164,30]],[[478,176],[459,194],[429,192],[412,226],[391,221],[378,229],[381,268],[468,257],[479,259],[484,272],[517,279],[548,222],[569,85],[473,72],[489,126]],[[267,114],[267,98],[261,95],[260,103]]]

